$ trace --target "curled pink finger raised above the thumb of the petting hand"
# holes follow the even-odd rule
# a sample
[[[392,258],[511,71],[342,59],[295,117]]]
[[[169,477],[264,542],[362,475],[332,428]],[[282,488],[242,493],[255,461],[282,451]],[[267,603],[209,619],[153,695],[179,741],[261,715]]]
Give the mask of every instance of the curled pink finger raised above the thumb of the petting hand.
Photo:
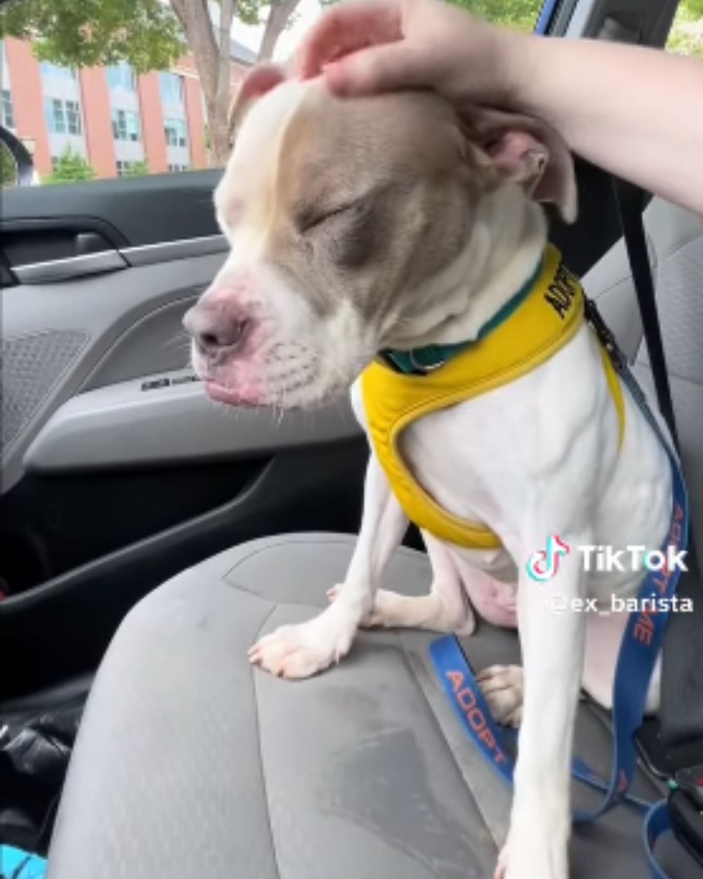
[[[309,78],[345,54],[401,37],[399,0],[355,0],[323,14],[298,50],[296,63],[301,76]]]

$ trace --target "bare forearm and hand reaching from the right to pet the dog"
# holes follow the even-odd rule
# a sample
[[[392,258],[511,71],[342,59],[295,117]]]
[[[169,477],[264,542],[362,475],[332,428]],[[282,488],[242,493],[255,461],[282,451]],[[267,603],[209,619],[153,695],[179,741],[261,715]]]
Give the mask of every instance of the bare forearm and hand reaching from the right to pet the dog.
[[[439,0],[351,0],[323,14],[297,67],[338,95],[428,88],[538,117],[592,163],[703,213],[696,58],[518,33]]]

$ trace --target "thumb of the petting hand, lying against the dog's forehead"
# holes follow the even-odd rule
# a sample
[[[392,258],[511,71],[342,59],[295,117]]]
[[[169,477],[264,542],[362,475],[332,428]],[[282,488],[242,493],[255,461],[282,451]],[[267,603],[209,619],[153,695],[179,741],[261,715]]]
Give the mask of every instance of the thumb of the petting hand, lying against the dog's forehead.
[[[406,42],[365,48],[327,65],[323,74],[337,95],[370,95],[436,85],[431,58]]]

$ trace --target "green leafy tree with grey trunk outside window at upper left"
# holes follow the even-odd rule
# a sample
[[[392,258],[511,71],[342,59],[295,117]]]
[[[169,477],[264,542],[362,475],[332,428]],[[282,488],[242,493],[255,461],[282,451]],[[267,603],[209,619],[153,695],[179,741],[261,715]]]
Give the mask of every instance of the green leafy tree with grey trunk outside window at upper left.
[[[234,18],[262,24],[270,58],[300,0],[24,0],[4,5],[0,33],[33,43],[38,58],[67,67],[124,60],[140,73],[167,69],[190,48],[205,97],[211,156],[229,153],[230,31]],[[212,18],[212,11],[216,12]]]

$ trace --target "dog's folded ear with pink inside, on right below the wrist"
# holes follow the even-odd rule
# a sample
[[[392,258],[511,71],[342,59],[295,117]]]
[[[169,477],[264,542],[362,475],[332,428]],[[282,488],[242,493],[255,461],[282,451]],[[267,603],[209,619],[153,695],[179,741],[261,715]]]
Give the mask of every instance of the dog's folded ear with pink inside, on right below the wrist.
[[[528,116],[479,107],[462,112],[461,121],[499,178],[523,185],[535,201],[554,204],[565,222],[576,220],[574,163],[561,134]]]

